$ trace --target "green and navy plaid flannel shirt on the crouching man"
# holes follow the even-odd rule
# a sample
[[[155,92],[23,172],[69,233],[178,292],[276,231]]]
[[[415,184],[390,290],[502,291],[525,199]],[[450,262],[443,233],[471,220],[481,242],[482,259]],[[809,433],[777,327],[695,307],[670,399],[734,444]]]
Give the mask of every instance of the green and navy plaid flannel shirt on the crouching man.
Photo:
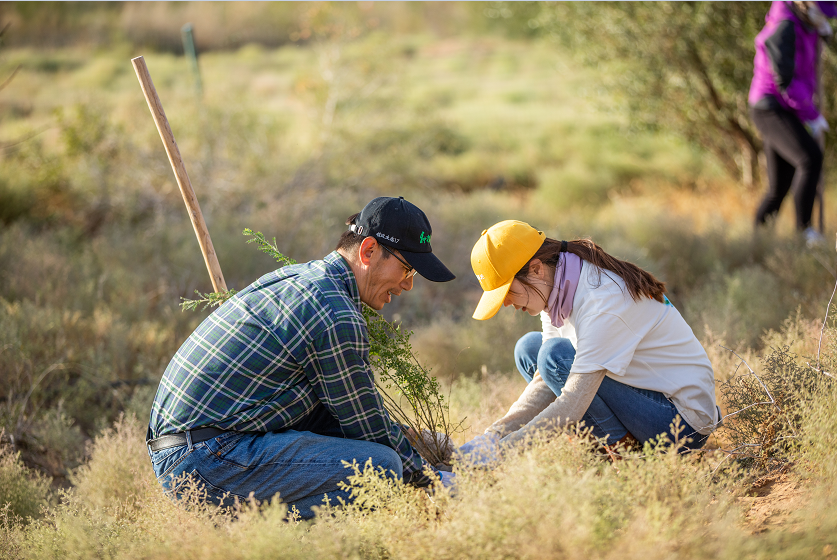
[[[344,437],[394,449],[405,482],[428,482],[375,387],[357,281],[336,251],[262,276],[207,317],[163,374],[150,432],[283,430],[318,403]]]

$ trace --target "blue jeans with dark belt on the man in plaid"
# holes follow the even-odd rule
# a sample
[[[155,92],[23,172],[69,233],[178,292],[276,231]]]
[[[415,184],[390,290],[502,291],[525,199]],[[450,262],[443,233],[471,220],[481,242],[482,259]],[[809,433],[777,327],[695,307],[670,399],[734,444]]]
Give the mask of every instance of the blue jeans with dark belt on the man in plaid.
[[[339,503],[337,498],[349,502],[349,492],[338,483],[347,482],[352,470],[341,461],[355,460],[363,467],[370,459],[388,476],[401,478],[401,457],[385,445],[294,430],[227,432],[191,446],[151,453],[154,474],[166,491],[173,490],[173,478],[189,474],[215,504],[230,506],[236,497],[246,501],[251,492],[259,501],[279,494],[289,507],[296,506],[303,519],[314,517],[311,506],[322,505],[326,494],[332,504]]]

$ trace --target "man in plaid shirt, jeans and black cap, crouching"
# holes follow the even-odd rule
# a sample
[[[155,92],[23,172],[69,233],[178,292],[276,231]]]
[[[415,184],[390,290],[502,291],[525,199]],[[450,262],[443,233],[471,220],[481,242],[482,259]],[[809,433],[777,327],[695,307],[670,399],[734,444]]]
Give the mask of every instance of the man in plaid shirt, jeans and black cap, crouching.
[[[344,461],[430,484],[375,388],[361,303],[383,308],[416,273],[454,275],[432,253],[424,212],[403,198],[376,198],[349,225],[323,260],[237,293],[172,358],[148,428],[165,489],[188,475],[217,504],[278,494],[309,518],[326,495],[349,500]]]

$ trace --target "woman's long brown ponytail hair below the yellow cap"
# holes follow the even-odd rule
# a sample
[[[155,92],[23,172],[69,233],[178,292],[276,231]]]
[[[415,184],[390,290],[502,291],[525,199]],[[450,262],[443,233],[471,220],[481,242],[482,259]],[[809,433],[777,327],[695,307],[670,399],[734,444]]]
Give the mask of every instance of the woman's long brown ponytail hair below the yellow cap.
[[[653,274],[642,270],[637,265],[617,259],[616,257],[607,254],[601,247],[593,243],[589,239],[575,239],[567,242],[567,252],[578,255],[595,266],[599,270],[599,282],[601,283],[601,272],[608,270],[617,274],[625,282],[625,287],[628,288],[628,293],[634,301],[639,301],[642,297],[655,299],[660,303],[664,303],[664,296],[666,292],[665,282],[657,280]],[[561,256],[561,242],[549,237],[541,245],[532,258],[527,261],[523,268],[514,275],[521,284],[528,286],[537,291],[541,298],[546,303],[544,294],[533,286],[529,280],[529,264],[532,259],[539,259],[542,263],[552,268],[553,270],[558,266],[558,258]]]

